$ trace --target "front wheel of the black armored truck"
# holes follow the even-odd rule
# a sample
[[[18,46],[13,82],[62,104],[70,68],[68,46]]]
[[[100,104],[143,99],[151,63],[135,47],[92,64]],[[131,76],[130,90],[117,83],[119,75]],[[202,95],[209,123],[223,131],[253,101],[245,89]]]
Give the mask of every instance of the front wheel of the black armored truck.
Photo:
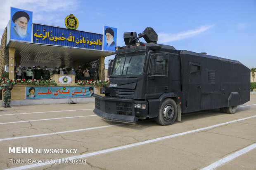
[[[171,99],[165,99],[159,109],[158,117],[155,118],[156,123],[162,126],[171,125],[176,120],[178,107],[176,102]]]

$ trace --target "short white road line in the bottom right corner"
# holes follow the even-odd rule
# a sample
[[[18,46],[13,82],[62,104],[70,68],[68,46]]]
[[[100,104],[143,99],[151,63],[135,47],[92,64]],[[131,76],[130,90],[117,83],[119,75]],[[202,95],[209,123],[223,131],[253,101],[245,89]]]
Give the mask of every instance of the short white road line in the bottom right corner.
[[[256,143],[250,145],[249,147],[245,147],[244,149],[241,149],[241,150],[235,152],[234,154],[226,156],[225,158],[220,159],[219,161],[216,161],[215,163],[212,163],[211,165],[209,165],[201,170],[213,170],[214,168],[217,168],[218,166],[223,165],[224,163],[227,163],[228,161],[231,161],[232,159],[235,159],[236,157],[241,156],[242,154],[245,154],[255,148],[256,148]]]

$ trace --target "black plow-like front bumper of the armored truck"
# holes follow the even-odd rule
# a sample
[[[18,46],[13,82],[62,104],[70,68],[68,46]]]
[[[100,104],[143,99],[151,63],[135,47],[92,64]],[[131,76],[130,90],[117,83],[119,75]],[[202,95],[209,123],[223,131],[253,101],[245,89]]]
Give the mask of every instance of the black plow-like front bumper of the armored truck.
[[[103,97],[94,94],[95,109],[93,112],[103,119],[136,124],[134,100],[116,97]]]

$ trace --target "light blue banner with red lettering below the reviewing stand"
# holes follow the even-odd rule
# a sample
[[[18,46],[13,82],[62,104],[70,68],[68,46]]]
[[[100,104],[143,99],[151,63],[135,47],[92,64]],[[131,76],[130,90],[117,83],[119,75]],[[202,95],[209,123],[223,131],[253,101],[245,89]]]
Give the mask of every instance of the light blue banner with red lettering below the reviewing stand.
[[[30,86],[26,87],[26,99],[84,98],[93,92],[93,86]]]

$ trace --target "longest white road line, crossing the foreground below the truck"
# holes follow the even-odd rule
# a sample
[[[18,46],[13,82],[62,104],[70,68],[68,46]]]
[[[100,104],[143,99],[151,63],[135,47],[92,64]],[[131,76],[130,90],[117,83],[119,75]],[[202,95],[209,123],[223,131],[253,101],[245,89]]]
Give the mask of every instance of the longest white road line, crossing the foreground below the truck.
[[[88,154],[82,154],[82,155],[62,158],[61,160],[62,160],[62,162],[64,162],[64,160],[67,161],[67,160],[73,160],[73,159],[79,159],[79,158],[86,158],[88,156],[104,154],[104,153],[108,153],[108,152],[111,152],[111,151],[117,151],[117,150],[121,150],[121,149],[126,149],[126,148],[130,148],[130,147],[139,146],[139,145],[142,145],[142,144],[148,144],[148,143],[156,142],[156,141],[159,141],[159,140],[164,140],[164,139],[169,139],[169,138],[172,138],[172,137],[182,136],[182,135],[189,134],[189,133],[199,132],[201,130],[215,128],[215,127],[218,127],[218,126],[223,126],[223,125],[226,125],[226,124],[234,123],[234,122],[237,122],[237,121],[243,121],[243,120],[254,118],[254,117],[256,117],[256,115],[246,117],[246,118],[243,118],[243,119],[237,119],[237,120],[234,120],[234,121],[228,121],[228,122],[225,122],[225,123],[220,123],[220,124],[213,125],[213,126],[208,126],[208,127],[205,127],[205,128],[190,130],[190,131],[183,132],[183,133],[177,133],[177,134],[174,134],[174,135],[159,137],[159,138],[152,139],[152,140],[147,140],[147,141],[144,141],[144,142],[137,142],[137,143],[134,143],[134,144],[128,144],[128,145],[124,145],[124,146],[121,146],[121,147],[115,147],[115,148],[111,148],[111,149],[104,149],[104,150],[101,150],[101,151],[91,152],[91,153],[88,153]],[[38,167],[38,166],[49,165],[49,164],[53,164],[54,161],[56,162],[57,160],[52,160],[51,162],[45,162],[45,163],[24,165],[24,166],[20,166],[20,167],[16,167],[16,168],[10,168],[8,170],[23,170],[23,169],[26,169],[26,168],[34,168],[34,167]]]

